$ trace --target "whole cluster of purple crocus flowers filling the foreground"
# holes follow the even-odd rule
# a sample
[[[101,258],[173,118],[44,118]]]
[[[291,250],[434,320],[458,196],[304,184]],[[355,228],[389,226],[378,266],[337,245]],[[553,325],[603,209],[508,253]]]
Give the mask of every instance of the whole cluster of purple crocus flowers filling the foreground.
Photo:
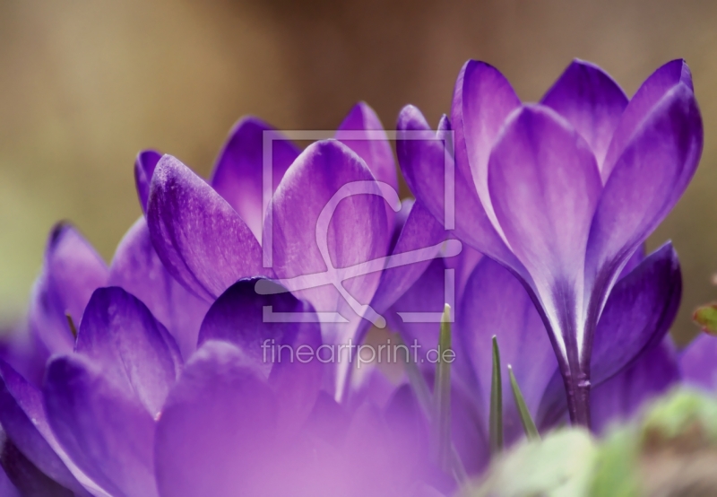
[[[449,495],[523,432],[601,432],[717,353],[678,356],[677,254],[643,246],[701,153],[682,61],[631,100],[574,62],[530,105],[470,61],[451,117],[404,109],[396,147],[415,201],[363,103],[303,151],[239,121],[208,181],[140,153],[143,216],[112,263],[58,225],[5,339],[0,485]],[[386,325],[440,359],[358,371]]]

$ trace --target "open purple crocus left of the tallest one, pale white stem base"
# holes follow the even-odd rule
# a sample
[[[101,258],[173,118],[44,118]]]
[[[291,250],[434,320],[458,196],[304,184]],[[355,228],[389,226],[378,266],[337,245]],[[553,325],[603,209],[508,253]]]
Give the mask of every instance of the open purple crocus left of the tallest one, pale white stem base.
[[[270,204],[262,191],[264,134],[274,138],[275,147]],[[415,257],[408,260],[415,264],[382,271],[384,257],[415,249],[437,252],[444,230],[417,202],[392,243],[394,212],[401,208],[395,164],[383,127],[366,104],[351,110],[336,138],[299,154],[269,126],[240,121],[209,184],[171,156],[142,155],[138,191],[147,203],[151,246],[168,273],[206,302],[240,278],[275,277],[317,312],[341,316],[323,319],[325,341],[358,343],[370,324],[362,318],[367,310],[378,314],[390,307],[430,262]],[[349,194],[339,197],[344,191]],[[332,203],[335,209],[326,217],[324,208]],[[272,249],[262,246],[267,236]],[[265,267],[267,255],[272,264]],[[344,276],[345,281],[333,271],[370,261],[378,261],[370,272]],[[301,280],[307,275],[318,283],[291,286],[308,281]],[[348,385],[343,364],[336,371],[337,397]]]

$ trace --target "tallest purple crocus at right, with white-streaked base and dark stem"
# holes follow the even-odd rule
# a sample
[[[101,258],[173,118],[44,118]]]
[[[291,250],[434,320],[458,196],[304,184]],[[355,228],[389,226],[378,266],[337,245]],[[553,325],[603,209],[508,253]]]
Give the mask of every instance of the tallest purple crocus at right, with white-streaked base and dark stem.
[[[455,235],[520,278],[549,331],[571,419],[588,424],[592,342],[609,292],[702,151],[689,69],[661,66],[628,100],[576,60],[540,103],[522,104],[497,69],[469,61],[451,120]],[[418,109],[404,109],[398,127],[427,134],[399,140],[399,159],[413,193],[444,220],[444,147]]]

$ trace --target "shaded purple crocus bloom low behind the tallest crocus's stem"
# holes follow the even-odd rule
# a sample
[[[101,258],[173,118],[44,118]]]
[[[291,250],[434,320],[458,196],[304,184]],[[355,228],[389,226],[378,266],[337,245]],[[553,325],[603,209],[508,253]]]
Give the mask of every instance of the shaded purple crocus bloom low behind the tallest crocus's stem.
[[[471,257],[470,249],[459,258],[467,257],[476,259]],[[523,284],[488,257],[479,258],[477,264],[463,262],[474,268],[457,298],[456,359],[452,371],[461,404],[454,413],[453,432],[464,466],[471,473],[479,473],[488,462],[489,453],[492,336],[497,336],[501,362],[512,366],[526,405],[541,431],[563,421],[567,403],[544,322]],[[421,350],[436,347],[435,327],[403,323],[394,316],[394,311],[440,305],[444,271],[444,261],[434,261],[387,315],[404,341],[417,340]],[[680,296],[678,258],[671,245],[666,244],[648,257],[639,249],[610,293],[595,333],[591,370],[596,432],[609,423],[626,419],[649,398],[678,381],[677,356],[667,334],[677,314]],[[523,426],[509,393],[507,374],[503,380],[505,442],[512,444],[523,439]]]

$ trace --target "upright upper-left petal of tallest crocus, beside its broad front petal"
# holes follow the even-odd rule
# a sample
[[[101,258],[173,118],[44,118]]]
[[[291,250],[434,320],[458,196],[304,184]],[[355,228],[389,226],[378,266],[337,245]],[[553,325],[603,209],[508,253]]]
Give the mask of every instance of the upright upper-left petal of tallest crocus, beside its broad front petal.
[[[488,193],[488,156],[505,119],[521,105],[503,74],[485,62],[469,60],[455,83],[452,115],[456,170],[472,178],[480,204],[500,231]]]

